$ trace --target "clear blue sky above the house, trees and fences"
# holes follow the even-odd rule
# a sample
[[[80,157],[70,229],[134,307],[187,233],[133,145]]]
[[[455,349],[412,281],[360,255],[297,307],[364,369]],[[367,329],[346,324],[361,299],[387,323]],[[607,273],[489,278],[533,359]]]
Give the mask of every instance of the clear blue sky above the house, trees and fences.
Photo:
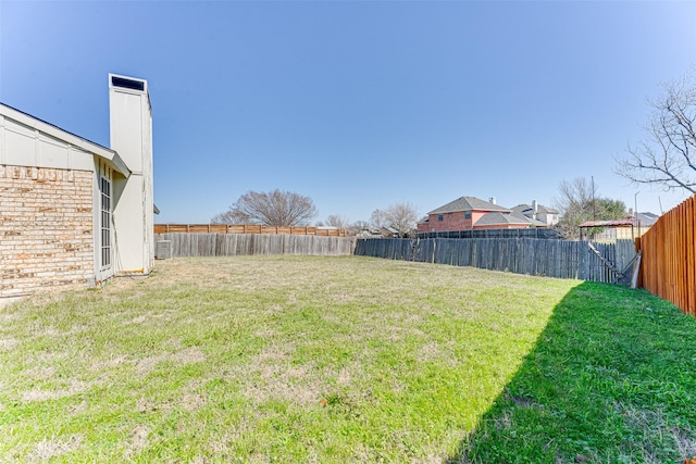
[[[695,2],[7,1],[0,102],[109,146],[108,73],[148,79],[158,223],[248,190],[368,221],[561,180],[659,213],[613,173],[647,98],[696,65]]]

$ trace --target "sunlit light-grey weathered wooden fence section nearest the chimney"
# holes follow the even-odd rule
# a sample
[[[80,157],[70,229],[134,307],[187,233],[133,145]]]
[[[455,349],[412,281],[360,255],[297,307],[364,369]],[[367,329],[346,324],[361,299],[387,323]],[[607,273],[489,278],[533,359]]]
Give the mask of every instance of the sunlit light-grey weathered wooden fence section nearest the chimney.
[[[158,234],[156,242],[171,241],[172,258],[232,256],[247,254],[352,254],[350,237],[318,237],[312,235],[244,235],[244,234]]]

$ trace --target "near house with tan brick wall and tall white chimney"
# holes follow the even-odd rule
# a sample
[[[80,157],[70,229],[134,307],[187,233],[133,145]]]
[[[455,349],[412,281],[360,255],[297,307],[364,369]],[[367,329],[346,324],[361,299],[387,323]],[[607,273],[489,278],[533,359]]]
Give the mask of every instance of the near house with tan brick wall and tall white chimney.
[[[109,75],[111,148],[0,104],[0,297],[153,265],[146,80]]]

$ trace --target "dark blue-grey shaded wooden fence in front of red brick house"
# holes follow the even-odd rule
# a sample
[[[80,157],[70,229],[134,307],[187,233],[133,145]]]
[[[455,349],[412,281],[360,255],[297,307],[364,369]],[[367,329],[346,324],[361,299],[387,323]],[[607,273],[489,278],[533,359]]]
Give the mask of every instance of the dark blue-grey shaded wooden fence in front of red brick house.
[[[358,239],[355,254],[533,276],[625,283],[632,272],[635,244],[633,240],[591,246],[584,241],[536,238],[368,238]],[[612,271],[605,262],[613,263],[623,273]]]

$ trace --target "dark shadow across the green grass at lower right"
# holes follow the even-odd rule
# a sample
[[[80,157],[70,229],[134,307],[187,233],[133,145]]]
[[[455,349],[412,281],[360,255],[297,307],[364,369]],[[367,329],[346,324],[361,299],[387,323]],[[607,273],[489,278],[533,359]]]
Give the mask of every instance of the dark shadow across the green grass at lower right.
[[[696,317],[584,283],[462,441],[455,463],[683,463],[696,455]]]

